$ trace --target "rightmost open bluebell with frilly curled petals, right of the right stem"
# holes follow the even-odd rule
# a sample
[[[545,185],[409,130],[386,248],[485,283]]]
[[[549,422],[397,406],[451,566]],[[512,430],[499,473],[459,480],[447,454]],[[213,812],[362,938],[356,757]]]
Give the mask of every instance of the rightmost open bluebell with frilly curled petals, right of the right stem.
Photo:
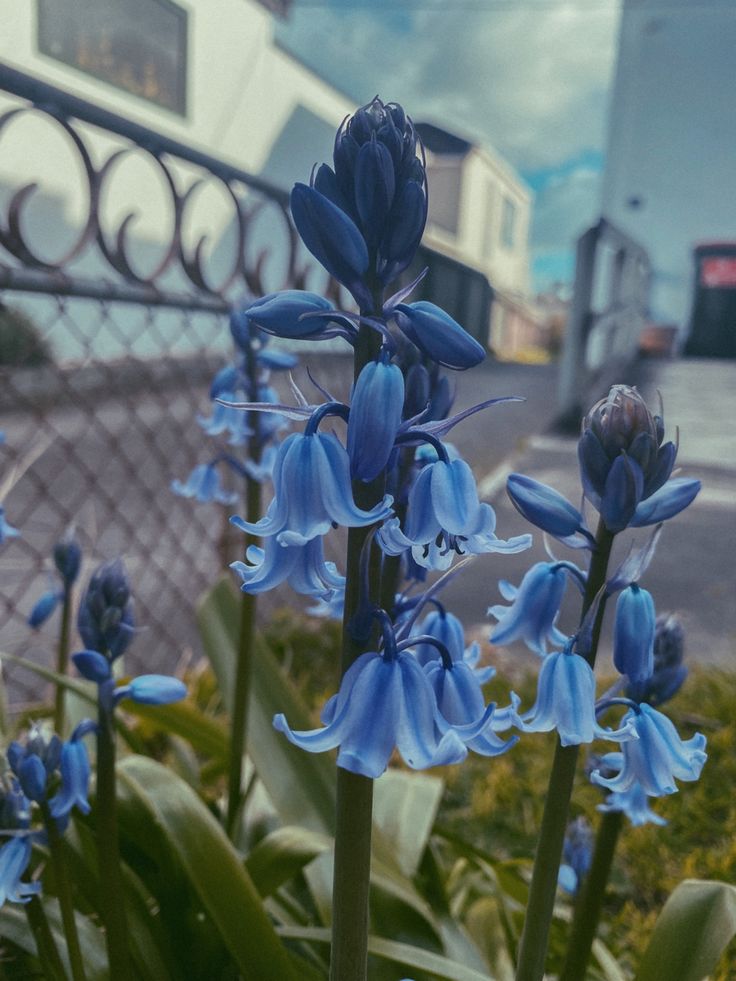
[[[620,753],[606,754],[603,763],[618,773],[607,777],[594,770],[593,783],[614,793],[624,793],[638,783],[650,797],[662,797],[677,792],[675,779],[698,779],[708,758],[702,733],[683,741],[667,716],[645,702],[627,712],[622,724],[639,738],[625,742]]]

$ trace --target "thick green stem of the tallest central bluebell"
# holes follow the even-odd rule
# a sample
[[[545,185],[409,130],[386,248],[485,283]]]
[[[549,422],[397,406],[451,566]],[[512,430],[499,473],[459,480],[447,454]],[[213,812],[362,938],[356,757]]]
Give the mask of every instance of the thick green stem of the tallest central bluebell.
[[[380,296],[375,303],[381,308]],[[375,331],[361,327],[355,347],[354,377],[376,356],[380,338]],[[383,494],[383,477],[368,484],[353,481],[358,507],[371,508]],[[353,661],[369,648],[355,641],[349,624],[360,592],[360,554],[369,528],[351,528],[345,584],[341,671],[345,674]],[[373,550],[370,565],[371,597],[380,597],[380,555]],[[332,950],[330,981],[366,981],[368,976],[368,892],[371,871],[371,831],[373,821],[373,781],[338,767],[337,809],[335,815],[335,871],[332,887]]]

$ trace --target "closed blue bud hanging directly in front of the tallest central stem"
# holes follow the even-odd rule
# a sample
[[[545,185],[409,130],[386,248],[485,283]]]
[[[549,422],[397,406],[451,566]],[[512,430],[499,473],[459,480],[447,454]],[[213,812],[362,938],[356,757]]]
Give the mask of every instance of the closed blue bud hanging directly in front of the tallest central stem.
[[[370,361],[350,400],[347,449],[353,477],[369,481],[388,463],[401,425],[404,376],[398,365]]]

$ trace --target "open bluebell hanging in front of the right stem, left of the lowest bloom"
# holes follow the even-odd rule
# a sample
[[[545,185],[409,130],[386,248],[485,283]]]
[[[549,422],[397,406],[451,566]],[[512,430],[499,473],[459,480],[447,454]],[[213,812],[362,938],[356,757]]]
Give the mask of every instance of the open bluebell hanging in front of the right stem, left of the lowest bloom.
[[[577,746],[593,739],[622,742],[636,738],[628,717],[616,730],[598,724],[593,669],[569,647],[544,659],[537,680],[537,700],[521,719],[524,732],[556,729],[563,746]]]

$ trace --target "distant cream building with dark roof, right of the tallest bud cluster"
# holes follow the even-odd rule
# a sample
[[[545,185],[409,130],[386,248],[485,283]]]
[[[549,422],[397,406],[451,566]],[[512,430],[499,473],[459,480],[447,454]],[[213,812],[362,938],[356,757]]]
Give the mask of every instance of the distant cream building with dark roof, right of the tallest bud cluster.
[[[537,342],[529,302],[531,189],[491,147],[418,123],[427,153],[424,242],[482,272],[494,290],[488,344],[512,356]]]

